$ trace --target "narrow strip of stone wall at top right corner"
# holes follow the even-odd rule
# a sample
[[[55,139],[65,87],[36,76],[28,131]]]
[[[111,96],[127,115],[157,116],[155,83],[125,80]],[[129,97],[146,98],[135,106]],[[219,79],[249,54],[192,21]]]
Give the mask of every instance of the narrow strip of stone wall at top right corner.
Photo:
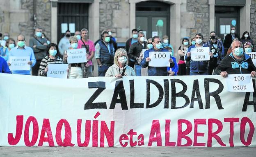
[[[256,44],[256,0],[251,0],[250,10],[250,37]]]

